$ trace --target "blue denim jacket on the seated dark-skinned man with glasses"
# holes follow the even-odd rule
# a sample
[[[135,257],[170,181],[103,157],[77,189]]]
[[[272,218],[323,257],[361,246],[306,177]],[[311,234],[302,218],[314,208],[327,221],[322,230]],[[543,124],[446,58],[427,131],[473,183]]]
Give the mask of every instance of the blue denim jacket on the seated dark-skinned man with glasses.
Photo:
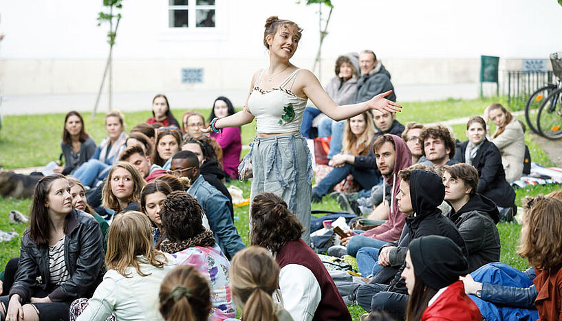
[[[230,217],[226,196],[208,184],[202,175],[197,177],[187,192],[201,204],[209,220],[210,230],[215,234],[215,240],[227,258],[233,258],[236,252],[246,247]]]

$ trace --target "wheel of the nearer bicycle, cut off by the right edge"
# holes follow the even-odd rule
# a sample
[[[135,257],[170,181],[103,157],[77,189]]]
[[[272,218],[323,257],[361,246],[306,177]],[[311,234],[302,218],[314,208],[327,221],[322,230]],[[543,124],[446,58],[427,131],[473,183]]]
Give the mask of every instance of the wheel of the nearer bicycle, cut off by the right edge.
[[[537,129],[550,140],[562,137],[562,88],[552,91],[539,107]]]

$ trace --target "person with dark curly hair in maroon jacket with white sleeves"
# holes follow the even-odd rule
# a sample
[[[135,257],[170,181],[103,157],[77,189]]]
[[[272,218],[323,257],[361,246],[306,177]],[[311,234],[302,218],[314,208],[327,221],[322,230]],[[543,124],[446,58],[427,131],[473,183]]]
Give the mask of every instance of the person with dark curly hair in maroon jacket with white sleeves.
[[[270,250],[281,267],[283,306],[294,320],[352,320],[320,258],[301,239],[303,225],[281,197],[256,195],[250,222],[252,245]]]

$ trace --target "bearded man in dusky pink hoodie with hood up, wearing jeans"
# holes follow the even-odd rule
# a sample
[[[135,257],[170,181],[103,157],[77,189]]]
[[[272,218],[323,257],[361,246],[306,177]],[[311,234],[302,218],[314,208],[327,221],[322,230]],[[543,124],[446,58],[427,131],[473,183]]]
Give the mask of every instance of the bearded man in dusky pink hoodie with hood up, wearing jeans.
[[[356,256],[361,247],[381,247],[387,242],[393,242],[400,238],[400,232],[404,228],[404,219],[407,214],[398,209],[398,188],[400,179],[398,172],[411,165],[412,156],[410,150],[402,138],[385,134],[379,136],[373,144],[373,153],[380,173],[385,179],[383,184],[391,186],[391,202],[389,204],[388,220],[365,231],[363,234],[349,232],[348,237],[342,239],[342,244],[347,245],[347,254]]]

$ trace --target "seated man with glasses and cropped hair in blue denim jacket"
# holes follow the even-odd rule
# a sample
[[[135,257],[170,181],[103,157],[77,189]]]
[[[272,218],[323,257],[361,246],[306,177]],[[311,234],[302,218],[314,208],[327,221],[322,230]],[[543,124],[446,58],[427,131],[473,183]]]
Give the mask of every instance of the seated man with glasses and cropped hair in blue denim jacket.
[[[227,258],[232,258],[246,247],[242,243],[228,210],[228,198],[199,175],[199,159],[190,151],[180,151],[173,155],[169,173],[176,177],[187,177],[191,187],[187,192],[193,195],[209,220],[210,230]]]

